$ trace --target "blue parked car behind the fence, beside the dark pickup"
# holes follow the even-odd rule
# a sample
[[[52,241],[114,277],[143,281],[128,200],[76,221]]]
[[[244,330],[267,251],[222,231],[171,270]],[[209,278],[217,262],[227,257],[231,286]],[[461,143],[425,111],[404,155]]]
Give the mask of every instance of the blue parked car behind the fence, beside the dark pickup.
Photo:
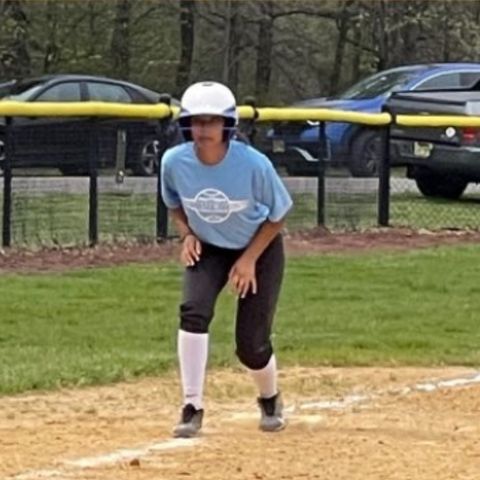
[[[409,65],[371,75],[332,98],[312,98],[296,108],[332,108],[378,113],[395,91],[468,88],[480,79],[480,63]],[[326,122],[328,159],[346,166],[357,177],[376,176],[379,164],[379,130],[353,123]],[[266,153],[290,175],[316,175],[319,123],[283,122],[267,133]]]

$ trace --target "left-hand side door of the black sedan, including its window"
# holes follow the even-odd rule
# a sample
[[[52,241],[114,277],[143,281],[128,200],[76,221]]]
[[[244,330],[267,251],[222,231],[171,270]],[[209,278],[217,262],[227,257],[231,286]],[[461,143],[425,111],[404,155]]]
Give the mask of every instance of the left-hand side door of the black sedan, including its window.
[[[65,81],[39,89],[32,102],[81,101],[80,82]],[[88,130],[82,117],[19,117],[14,119],[14,166],[83,170]]]

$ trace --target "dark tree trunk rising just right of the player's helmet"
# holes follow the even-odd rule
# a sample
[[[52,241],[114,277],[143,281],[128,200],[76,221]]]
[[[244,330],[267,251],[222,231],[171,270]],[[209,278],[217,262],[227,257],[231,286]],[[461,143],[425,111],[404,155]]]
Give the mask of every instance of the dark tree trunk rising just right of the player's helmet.
[[[267,100],[272,74],[273,1],[260,3],[261,17],[258,29],[257,65],[255,73],[255,98],[259,105]]]

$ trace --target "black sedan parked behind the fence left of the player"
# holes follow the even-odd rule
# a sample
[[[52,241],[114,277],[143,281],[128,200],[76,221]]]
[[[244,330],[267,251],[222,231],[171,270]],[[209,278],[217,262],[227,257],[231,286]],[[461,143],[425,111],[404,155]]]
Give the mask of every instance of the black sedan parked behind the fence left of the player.
[[[102,101],[128,104],[156,104],[160,95],[139,85],[106,77],[47,75],[14,80],[0,85],[3,100],[20,102]],[[173,103],[178,103],[176,100]],[[92,118],[15,117],[13,125],[13,167],[55,167],[64,174],[88,171],[89,132]],[[98,128],[99,167],[115,164],[118,132],[124,132],[125,166],[137,175],[153,175],[158,167],[158,125],[156,119],[102,118]],[[171,125],[168,141],[179,141]],[[5,145],[5,119],[0,119],[0,150]],[[2,158],[0,156],[0,167]]]

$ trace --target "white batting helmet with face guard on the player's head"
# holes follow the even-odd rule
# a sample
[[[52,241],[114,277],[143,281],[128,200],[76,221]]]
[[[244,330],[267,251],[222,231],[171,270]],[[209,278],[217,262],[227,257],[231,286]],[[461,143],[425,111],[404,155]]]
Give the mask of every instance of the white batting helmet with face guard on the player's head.
[[[228,87],[217,82],[194,83],[185,90],[181,99],[178,123],[186,141],[192,140],[192,117],[214,115],[224,122],[223,141],[235,134],[238,122],[236,101]]]

